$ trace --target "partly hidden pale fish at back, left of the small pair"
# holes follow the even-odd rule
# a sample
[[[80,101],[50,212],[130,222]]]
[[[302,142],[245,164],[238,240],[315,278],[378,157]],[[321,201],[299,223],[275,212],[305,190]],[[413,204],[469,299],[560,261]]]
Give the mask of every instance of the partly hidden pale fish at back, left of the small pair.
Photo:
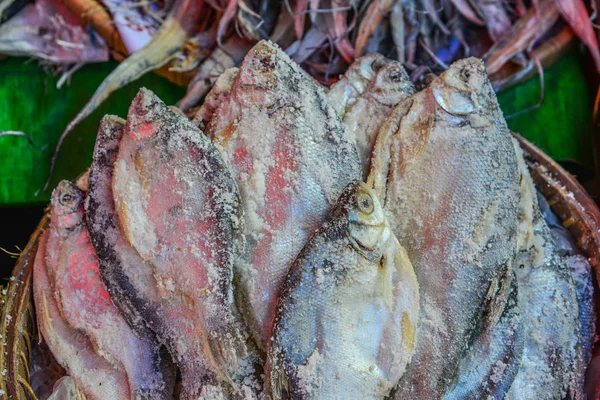
[[[340,118],[344,118],[346,111],[367,90],[371,79],[387,62],[389,60],[378,53],[360,57],[348,67],[339,81],[331,85],[327,97]]]

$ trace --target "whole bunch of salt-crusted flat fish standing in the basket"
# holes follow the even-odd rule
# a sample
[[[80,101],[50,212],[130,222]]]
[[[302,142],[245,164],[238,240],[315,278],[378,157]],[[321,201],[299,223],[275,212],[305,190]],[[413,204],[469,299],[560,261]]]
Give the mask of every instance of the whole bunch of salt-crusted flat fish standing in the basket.
[[[34,297],[91,399],[582,398],[577,262],[480,60],[416,92],[369,55],[326,91],[263,41],[191,121],[146,89],[104,117]]]

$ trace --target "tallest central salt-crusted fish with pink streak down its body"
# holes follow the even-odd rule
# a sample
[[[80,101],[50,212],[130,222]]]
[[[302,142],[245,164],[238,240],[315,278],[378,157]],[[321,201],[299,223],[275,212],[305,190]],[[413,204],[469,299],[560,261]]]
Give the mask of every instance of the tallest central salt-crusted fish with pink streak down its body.
[[[267,41],[246,55],[207,134],[240,189],[246,248],[234,266],[236,300],[264,350],[290,265],[344,187],[360,178],[356,146],[323,89]]]

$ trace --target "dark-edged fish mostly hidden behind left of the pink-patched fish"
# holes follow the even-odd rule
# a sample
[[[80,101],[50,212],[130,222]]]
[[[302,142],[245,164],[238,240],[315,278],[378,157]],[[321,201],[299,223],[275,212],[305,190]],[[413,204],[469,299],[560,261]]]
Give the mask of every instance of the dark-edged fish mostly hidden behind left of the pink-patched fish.
[[[229,390],[221,384],[227,378],[219,379],[218,371],[202,358],[200,349],[186,346],[186,339],[195,340],[191,332],[197,328],[194,324],[196,315],[186,314],[188,307],[179,297],[163,301],[153,265],[131,247],[121,226],[112,179],[119,143],[124,134],[125,121],[105,116],[100,122],[90,167],[86,222],[98,255],[102,279],[129,324],[140,334],[156,335],[179,367],[185,369],[185,375],[195,376],[193,380],[186,379],[180,398],[227,398]],[[184,353],[190,356],[187,363],[177,359]]]

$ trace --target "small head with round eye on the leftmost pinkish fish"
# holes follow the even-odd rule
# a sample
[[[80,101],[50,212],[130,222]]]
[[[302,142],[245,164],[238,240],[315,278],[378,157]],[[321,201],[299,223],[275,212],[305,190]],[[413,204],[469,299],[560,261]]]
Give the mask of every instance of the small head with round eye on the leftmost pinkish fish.
[[[52,223],[62,229],[74,229],[83,222],[83,192],[73,182],[61,181],[52,192]]]

